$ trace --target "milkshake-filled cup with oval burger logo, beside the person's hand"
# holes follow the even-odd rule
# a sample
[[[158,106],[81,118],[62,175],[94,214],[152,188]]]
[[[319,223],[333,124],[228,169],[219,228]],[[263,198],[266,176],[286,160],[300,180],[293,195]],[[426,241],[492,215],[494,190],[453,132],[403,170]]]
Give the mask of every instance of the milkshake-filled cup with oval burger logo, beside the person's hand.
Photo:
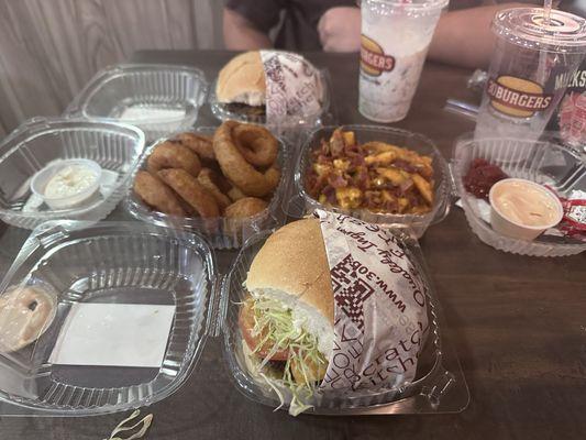
[[[360,112],[376,122],[403,119],[447,0],[362,0]]]

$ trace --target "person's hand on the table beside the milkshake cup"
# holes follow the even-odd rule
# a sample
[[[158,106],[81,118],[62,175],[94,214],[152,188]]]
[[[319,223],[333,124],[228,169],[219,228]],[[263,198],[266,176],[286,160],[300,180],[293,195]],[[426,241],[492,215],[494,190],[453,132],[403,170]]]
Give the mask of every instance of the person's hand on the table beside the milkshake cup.
[[[321,46],[325,52],[357,52],[361,48],[361,10],[331,8],[318,23]]]

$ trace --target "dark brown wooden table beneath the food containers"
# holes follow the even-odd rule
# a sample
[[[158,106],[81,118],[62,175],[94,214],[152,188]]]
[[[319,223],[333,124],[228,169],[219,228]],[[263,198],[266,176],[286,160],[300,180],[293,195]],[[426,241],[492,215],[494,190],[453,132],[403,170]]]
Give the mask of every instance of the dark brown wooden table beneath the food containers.
[[[133,61],[192,64],[209,79],[228,52],[142,52]],[[330,69],[341,123],[357,112],[355,55],[310,54]],[[433,139],[450,157],[473,124],[442,110],[446,98],[473,100],[469,72],[428,64],[411,112],[397,127]],[[201,123],[210,123],[208,110]],[[111,219],[128,216],[119,208]],[[0,273],[27,231],[0,229]],[[471,391],[456,415],[297,419],[251,403],[231,384],[221,341],[210,340],[196,371],[172,397],[153,405],[148,439],[570,439],[586,431],[586,255],[537,258],[483,244],[454,208],[421,240],[447,331]],[[225,270],[233,253],[219,254]],[[122,415],[90,418],[0,418],[0,438],[102,439]]]

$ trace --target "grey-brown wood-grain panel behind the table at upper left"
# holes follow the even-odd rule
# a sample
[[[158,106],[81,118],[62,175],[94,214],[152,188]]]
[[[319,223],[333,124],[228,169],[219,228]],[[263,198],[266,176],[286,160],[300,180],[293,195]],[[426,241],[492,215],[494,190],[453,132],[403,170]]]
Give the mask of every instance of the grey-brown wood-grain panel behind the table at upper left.
[[[0,136],[137,50],[221,47],[217,0],[0,0]]]

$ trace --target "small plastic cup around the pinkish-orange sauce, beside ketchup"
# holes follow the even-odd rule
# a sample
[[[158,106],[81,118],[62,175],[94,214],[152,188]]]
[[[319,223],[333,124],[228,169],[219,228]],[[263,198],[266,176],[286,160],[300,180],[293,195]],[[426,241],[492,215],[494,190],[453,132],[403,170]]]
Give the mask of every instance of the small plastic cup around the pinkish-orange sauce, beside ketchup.
[[[518,221],[515,221],[510,218],[507,218],[507,216],[502,213],[502,211],[498,208],[497,204],[495,202],[495,194],[504,185],[508,185],[508,184],[516,183],[516,182],[522,183],[523,185],[529,185],[535,188],[541,194],[545,195],[548,198],[552,200],[556,209],[555,218],[553,221],[544,223],[544,224],[539,224],[539,226],[528,226],[528,224],[522,224]],[[560,201],[557,197],[555,197],[555,195],[551,190],[549,190],[542,185],[535,184],[534,182],[527,180],[527,179],[507,178],[507,179],[497,182],[490,188],[490,193],[488,194],[488,200],[490,201],[490,224],[493,226],[493,229],[501,235],[510,237],[513,239],[532,241],[537,239],[539,235],[541,235],[548,229],[553,228],[557,223],[560,223],[560,221],[562,221],[562,218],[564,216],[564,209],[562,207],[562,202]]]

